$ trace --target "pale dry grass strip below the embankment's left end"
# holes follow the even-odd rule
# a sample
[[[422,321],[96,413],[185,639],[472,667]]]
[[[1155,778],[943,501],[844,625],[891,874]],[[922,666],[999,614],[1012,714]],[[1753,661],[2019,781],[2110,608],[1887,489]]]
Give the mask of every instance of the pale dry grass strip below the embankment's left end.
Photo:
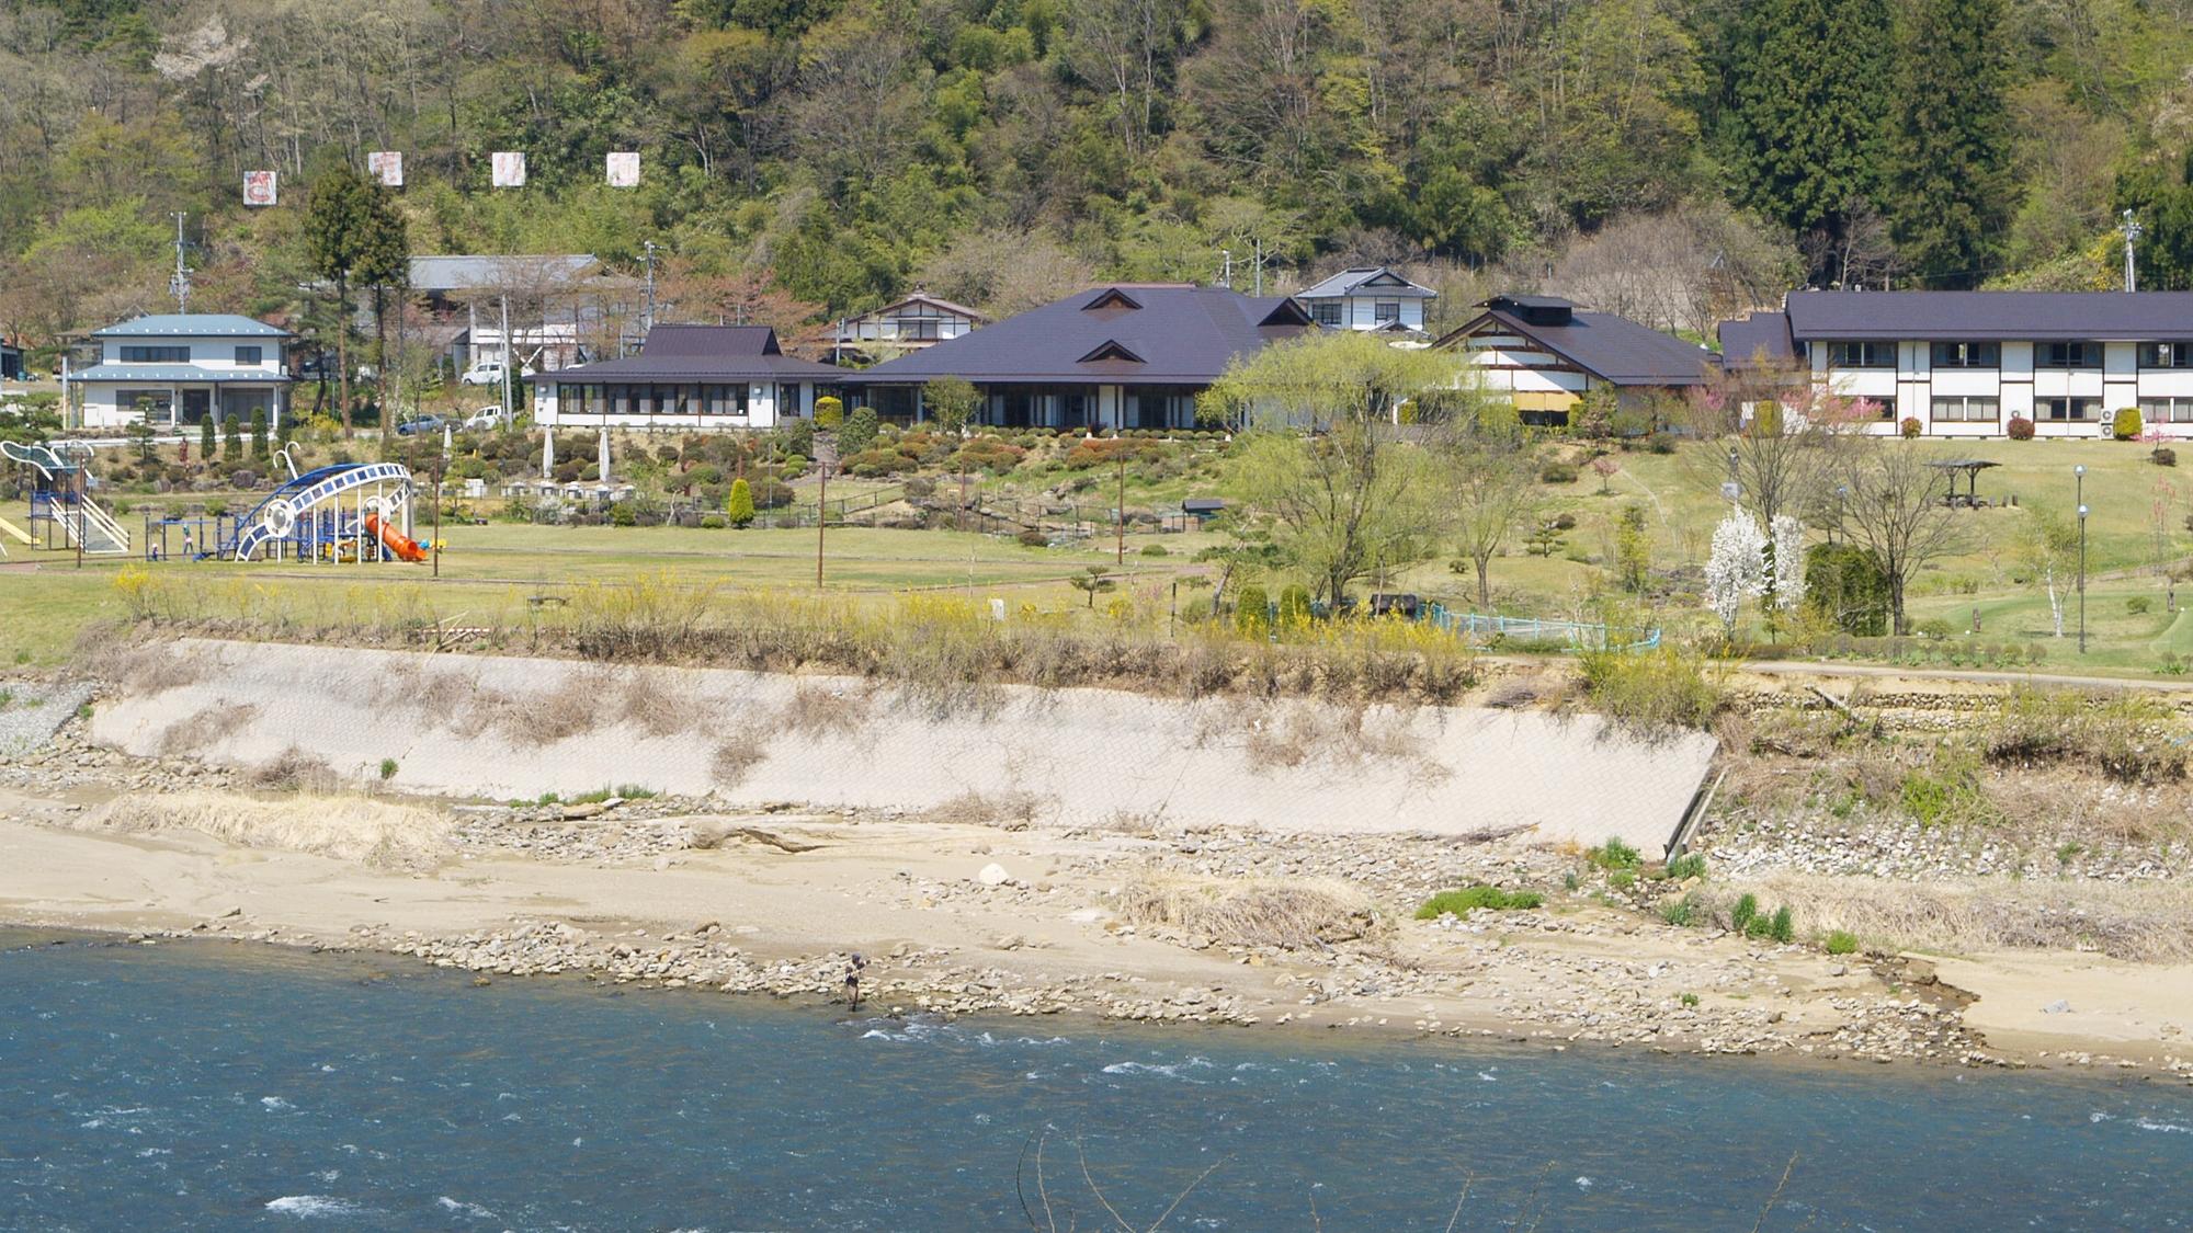
[[[450,838],[450,821],[441,814],[364,796],[138,794],[110,801],[77,825],[116,834],[200,832],[243,847],[307,851],[375,869],[430,869]]]

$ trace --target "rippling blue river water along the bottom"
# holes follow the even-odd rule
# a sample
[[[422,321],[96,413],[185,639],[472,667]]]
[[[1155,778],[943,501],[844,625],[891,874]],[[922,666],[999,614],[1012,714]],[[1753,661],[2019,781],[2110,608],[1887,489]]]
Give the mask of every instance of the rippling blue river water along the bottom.
[[[2193,1226],[2180,1086],[1340,1036],[0,930],[0,1229]]]

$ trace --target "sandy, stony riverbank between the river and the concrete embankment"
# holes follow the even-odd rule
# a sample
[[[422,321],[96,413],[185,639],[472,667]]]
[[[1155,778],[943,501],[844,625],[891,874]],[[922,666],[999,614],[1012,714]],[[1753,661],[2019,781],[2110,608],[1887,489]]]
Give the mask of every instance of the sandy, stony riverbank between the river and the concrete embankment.
[[[0,921],[814,1000],[840,992],[857,950],[873,1005],[906,1011],[2193,1071],[2178,1062],[2193,1053],[2184,968],[2055,952],[1838,959],[1667,926],[1590,886],[1539,910],[1408,915],[1456,884],[1561,886],[1577,869],[1522,838],[1009,832],[798,810],[697,816],[702,803],[671,801],[564,821],[559,807],[419,803],[447,818],[447,847],[386,871],[197,832],[77,829],[123,792],[230,788],[226,770],[92,750],[70,733],[0,768]],[[1002,880],[982,878],[993,864]],[[1327,880],[1375,915],[1296,948],[1123,919],[1116,891],[1151,880]],[[2044,1011],[2053,1003],[2070,1009]]]

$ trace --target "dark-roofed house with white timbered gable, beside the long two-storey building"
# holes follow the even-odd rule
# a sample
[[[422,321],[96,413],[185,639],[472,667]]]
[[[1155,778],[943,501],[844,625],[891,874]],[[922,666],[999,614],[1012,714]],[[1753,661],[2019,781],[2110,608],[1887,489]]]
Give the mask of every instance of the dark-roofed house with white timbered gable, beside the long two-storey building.
[[[1643,406],[1704,384],[1719,362],[1673,333],[1557,296],[1493,296],[1474,307],[1485,312],[1432,347],[1461,351],[1526,423],[1568,423],[1568,408],[1597,388],[1612,388],[1621,406]]]

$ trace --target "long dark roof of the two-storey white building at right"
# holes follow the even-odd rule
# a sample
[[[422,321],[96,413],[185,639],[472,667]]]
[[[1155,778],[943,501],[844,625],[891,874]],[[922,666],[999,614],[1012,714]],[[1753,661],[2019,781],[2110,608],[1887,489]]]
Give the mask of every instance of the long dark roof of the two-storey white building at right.
[[[1798,342],[2189,340],[2193,292],[1789,292]]]

